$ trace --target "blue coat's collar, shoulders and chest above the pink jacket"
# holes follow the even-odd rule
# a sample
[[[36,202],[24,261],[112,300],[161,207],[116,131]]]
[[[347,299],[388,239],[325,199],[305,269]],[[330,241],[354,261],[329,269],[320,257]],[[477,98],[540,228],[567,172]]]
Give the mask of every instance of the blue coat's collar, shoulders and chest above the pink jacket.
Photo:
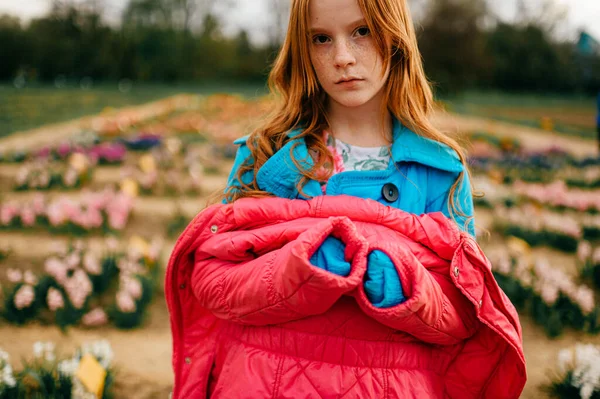
[[[293,138],[299,133],[300,131],[294,130],[289,136]],[[247,138],[248,136],[245,136],[235,141],[240,148],[227,187],[239,186],[238,168],[246,159],[252,162],[249,159],[250,150],[246,146]],[[304,140],[292,139],[260,168],[256,176],[259,188],[277,197],[290,199],[323,195],[320,183],[315,180],[309,181],[302,193],[296,189],[296,183],[302,175],[290,157],[292,148],[301,165],[313,165]],[[393,124],[391,152],[394,162],[390,162],[387,170],[338,173],[329,179],[325,194],[369,198],[417,215],[442,212],[450,217],[450,188],[459,173],[464,170],[456,152],[444,144],[415,134],[397,120]],[[242,176],[242,180],[244,183],[250,183],[252,172],[247,172]],[[473,197],[467,174],[454,199],[463,214],[473,215]],[[455,219],[458,226],[465,230],[465,217],[455,215]],[[475,235],[472,219],[466,231]]]

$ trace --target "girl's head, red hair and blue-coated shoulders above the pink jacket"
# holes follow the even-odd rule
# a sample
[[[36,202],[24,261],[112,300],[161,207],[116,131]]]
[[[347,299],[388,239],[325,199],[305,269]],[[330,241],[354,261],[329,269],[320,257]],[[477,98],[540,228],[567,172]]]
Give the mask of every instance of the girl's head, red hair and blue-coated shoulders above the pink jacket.
[[[432,93],[404,0],[294,1],[270,85],[278,107],[236,142],[226,202],[322,189],[441,211],[474,234],[465,156],[428,119]]]

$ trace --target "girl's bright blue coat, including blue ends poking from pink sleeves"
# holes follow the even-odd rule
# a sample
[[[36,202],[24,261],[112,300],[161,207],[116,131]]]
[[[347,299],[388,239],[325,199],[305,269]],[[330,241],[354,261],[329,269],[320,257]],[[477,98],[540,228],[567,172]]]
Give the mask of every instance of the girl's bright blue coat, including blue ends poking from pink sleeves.
[[[290,140],[277,151],[259,169],[256,176],[258,187],[276,197],[305,199],[323,195],[321,184],[309,181],[302,193],[296,183],[302,174],[292,162],[290,152],[302,167],[314,165],[302,138],[294,137],[300,133],[289,133]],[[246,160],[252,163],[250,150],[246,146],[247,136],[235,141],[240,145],[227,188],[238,186],[237,172]],[[448,196],[459,173],[464,170],[456,152],[436,141],[423,138],[394,121],[392,158],[388,169],[379,171],[347,171],[333,175],[327,182],[325,195],[352,195],[372,199],[403,211],[423,214],[442,212],[450,217]],[[242,176],[244,183],[252,181],[252,171]],[[455,193],[456,204],[464,216],[455,216],[461,229],[465,229],[465,220],[473,215],[473,197],[468,175]],[[471,235],[475,235],[473,220],[466,226]],[[328,237],[311,257],[311,263],[332,273],[346,276],[350,264],[344,259],[344,244],[335,237]],[[367,260],[365,274],[365,292],[374,306],[392,307],[406,300],[401,278],[387,254],[373,251]]]

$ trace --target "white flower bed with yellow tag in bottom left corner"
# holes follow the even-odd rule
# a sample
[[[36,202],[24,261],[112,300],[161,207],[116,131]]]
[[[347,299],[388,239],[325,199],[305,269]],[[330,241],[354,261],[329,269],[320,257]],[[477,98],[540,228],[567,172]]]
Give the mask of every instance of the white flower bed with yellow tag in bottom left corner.
[[[85,343],[71,357],[57,354],[52,342],[36,342],[33,358],[15,372],[10,357],[0,348],[0,398],[112,398],[113,357],[108,341]]]

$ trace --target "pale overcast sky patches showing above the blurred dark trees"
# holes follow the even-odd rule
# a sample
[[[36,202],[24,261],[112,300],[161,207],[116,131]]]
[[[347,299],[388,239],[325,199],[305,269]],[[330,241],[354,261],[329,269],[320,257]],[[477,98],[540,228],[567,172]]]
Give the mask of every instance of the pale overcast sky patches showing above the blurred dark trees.
[[[225,31],[235,33],[240,29],[250,32],[255,42],[265,39],[266,0],[235,0],[237,5],[229,11],[225,21]],[[281,0],[285,1],[285,0]],[[524,0],[528,6],[541,5],[543,0]],[[568,12],[566,26],[560,27],[563,37],[575,38],[579,28],[585,28],[592,36],[600,40],[600,0],[555,0]],[[104,0],[108,18],[118,20],[126,0]],[[495,12],[504,20],[510,21],[516,14],[517,0],[493,1]],[[49,0],[0,0],[0,13],[9,13],[28,20],[44,15]]]

